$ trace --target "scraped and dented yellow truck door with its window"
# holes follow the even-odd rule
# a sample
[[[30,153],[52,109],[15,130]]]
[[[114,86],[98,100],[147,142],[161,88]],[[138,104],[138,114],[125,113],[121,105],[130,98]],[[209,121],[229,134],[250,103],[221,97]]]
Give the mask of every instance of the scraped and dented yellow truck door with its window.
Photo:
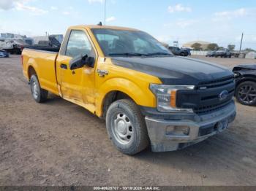
[[[56,72],[62,97],[85,106],[89,110],[94,105],[94,68],[83,66],[83,68],[70,70],[69,61],[78,55],[88,55],[97,61],[96,51],[84,30],[71,30],[68,32],[67,46],[61,47],[56,60]]]

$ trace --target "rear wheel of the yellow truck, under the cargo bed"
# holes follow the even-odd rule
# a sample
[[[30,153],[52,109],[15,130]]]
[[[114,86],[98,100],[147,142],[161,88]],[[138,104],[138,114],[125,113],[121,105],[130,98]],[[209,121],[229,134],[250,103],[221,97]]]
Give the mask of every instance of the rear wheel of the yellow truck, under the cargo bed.
[[[33,95],[33,98],[34,98],[35,101],[37,101],[37,103],[42,103],[42,102],[47,100],[48,91],[43,90],[40,87],[37,76],[34,75],[34,74],[30,78],[30,89],[31,89],[31,93]]]

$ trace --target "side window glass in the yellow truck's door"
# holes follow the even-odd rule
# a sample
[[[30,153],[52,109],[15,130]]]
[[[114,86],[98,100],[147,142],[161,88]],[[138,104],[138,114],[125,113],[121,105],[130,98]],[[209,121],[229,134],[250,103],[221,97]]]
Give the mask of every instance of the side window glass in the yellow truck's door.
[[[94,49],[84,31],[72,30],[67,42],[66,55],[74,58],[78,55],[88,55],[95,58]]]

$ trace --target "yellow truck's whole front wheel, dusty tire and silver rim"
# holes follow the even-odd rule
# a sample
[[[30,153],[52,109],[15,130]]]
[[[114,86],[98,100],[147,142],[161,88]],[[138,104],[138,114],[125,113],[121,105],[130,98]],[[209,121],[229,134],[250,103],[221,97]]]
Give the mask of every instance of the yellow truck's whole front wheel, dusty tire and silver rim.
[[[129,99],[110,105],[106,115],[108,136],[113,145],[126,155],[135,155],[149,144],[148,132],[138,106]]]

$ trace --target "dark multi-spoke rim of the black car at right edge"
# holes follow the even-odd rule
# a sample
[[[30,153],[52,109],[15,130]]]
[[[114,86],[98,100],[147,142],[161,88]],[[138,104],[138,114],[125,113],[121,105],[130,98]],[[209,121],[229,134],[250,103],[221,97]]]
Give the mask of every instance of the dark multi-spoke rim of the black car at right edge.
[[[252,104],[256,99],[256,89],[252,85],[244,85],[239,88],[238,97],[244,104]]]

